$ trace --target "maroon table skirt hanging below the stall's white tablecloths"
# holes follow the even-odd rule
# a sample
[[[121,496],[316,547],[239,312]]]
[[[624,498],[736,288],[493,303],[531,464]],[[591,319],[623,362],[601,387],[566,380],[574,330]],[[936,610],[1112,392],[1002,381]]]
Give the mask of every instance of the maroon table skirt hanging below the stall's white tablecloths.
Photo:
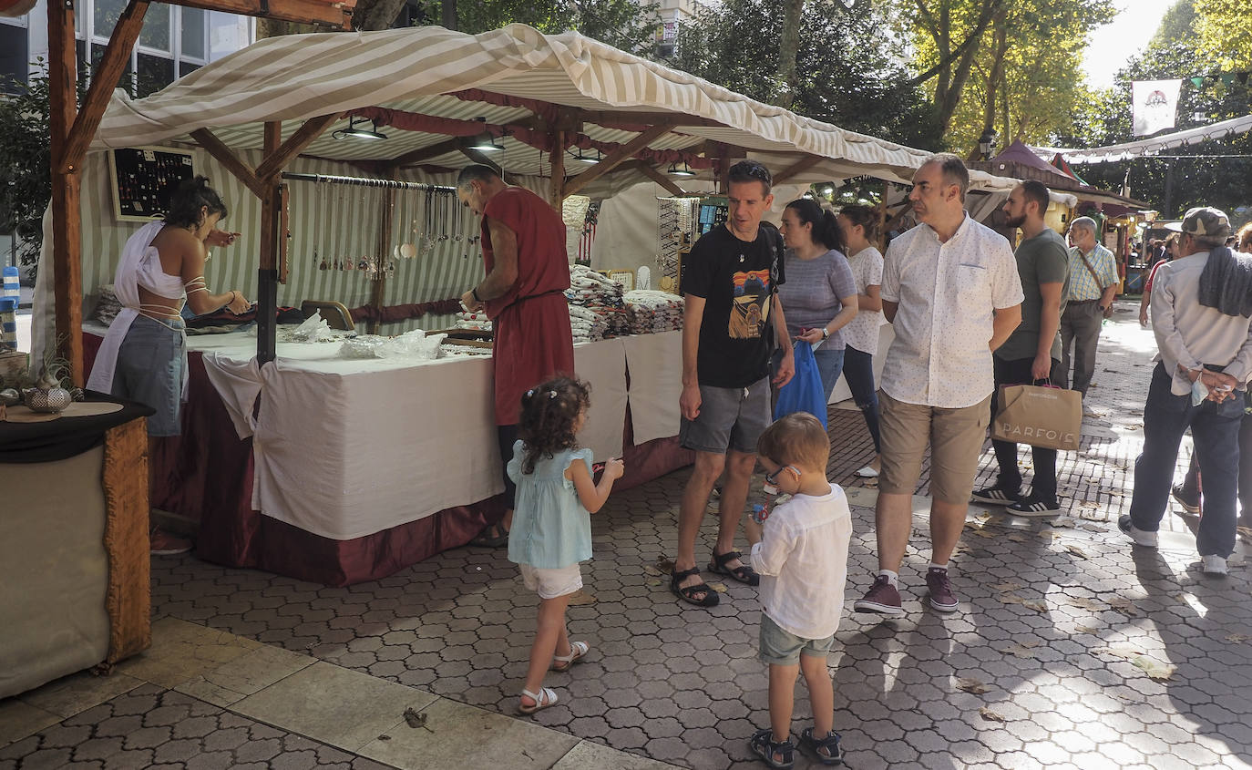
[[[85,371],[100,337],[83,334]],[[446,508],[424,518],[353,540],[332,540],[252,510],[252,438],[235,434],[225,404],[204,371],[204,357],[188,356],[190,384],[183,404],[183,434],[153,447],[151,506],[199,522],[195,555],[232,567],[255,567],[328,586],[386,577],[423,558],[466,545],[500,520],[502,496]],[[634,446],[627,409],[626,475],[615,490],[652,481],[691,465],[677,437]]]

